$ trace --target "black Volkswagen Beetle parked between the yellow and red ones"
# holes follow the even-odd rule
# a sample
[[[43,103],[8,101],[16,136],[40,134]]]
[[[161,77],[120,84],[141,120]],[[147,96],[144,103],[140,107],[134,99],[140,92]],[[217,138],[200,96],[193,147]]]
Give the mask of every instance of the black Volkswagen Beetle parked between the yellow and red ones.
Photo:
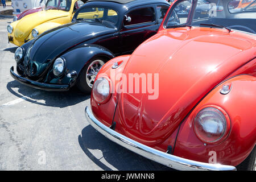
[[[11,76],[37,89],[66,91],[77,85],[89,93],[102,65],[156,34],[169,6],[166,0],[89,0],[71,23],[18,47],[18,74],[11,67]]]

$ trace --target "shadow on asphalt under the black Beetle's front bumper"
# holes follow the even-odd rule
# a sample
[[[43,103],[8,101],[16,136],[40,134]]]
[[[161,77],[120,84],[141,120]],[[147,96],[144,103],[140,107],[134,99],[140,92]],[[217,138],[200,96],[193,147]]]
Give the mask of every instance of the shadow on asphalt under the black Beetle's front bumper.
[[[51,107],[63,108],[72,106],[90,98],[90,95],[82,93],[76,86],[67,92],[47,92],[22,85],[14,80],[8,82],[6,88],[16,97],[23,98],[33,104]]]

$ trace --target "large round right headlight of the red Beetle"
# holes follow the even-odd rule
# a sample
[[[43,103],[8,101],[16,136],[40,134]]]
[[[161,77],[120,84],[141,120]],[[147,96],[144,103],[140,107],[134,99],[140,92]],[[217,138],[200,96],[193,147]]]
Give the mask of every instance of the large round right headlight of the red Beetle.
[[[193,120],[193,128],[197,137],[205,143],[221,142],[229,133],[228,114],[221,108],[205,107]]]

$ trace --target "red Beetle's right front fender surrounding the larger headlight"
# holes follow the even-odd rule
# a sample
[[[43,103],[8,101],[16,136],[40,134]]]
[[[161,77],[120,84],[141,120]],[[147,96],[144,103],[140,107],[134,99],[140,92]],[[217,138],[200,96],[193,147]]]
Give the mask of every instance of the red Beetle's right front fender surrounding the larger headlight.
[[[228,94],[221,94],[224,84],[232,84]],[[174,155],[211,163],[237,166],[247,158],[256,144],[256,77],[239,75],[214,88],[180,125]],[[204,106],[221,107],[230,118],[230,131],[219,143],[206,144],[193,130],[193,118]]]

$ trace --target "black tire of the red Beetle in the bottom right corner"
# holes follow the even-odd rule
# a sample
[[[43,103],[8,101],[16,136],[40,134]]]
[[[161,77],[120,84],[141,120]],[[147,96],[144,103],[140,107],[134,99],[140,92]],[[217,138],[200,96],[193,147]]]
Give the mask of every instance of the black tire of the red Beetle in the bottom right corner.
[[[255,158],[256,158],[256,147],[254,146],[253,151],[247,156],[241,164],[237,166],[238,171],[254,171],[255,170]]]

